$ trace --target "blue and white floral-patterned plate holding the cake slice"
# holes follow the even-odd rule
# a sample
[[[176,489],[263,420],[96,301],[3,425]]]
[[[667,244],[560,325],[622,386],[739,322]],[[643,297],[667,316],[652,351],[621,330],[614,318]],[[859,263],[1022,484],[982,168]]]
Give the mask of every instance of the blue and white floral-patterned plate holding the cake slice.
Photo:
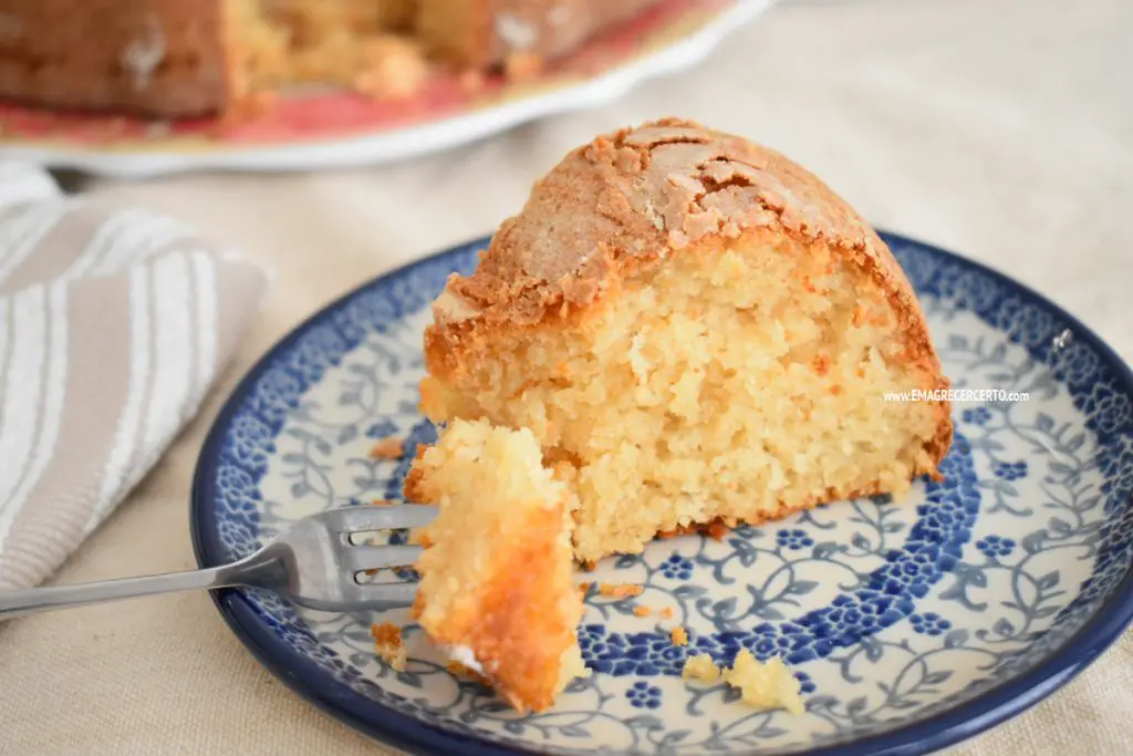
[[[403,672],[374,654],[384,615],[297,611],[270,593],[216,603],[299,694],[423,754],[919,754],[1034,704],[1133,617],[1133,374],[1045,298],[946,252],[888,236],[956,388],[1028,394],[961,402],[940,484],[911,500],[821,507],[717,542],[683,536],[607,559],[590,579],[644,584],[593,597],[580,644],[594,674],[550,712],[519,716],[453,678],[420,631]],[[193,528],[202,566],[238,559],[289,521],[398,499],[418,443],[421,332],[480,239],[330,305],[244,379],[201,455]],[[403,438],[406,459],[369,457]],[[672,619],[633,614],[638,603]],[[691,642],[676,647],[675,626]],[[806,714],[760,712],[687,682],[690,653],[782,655]]]

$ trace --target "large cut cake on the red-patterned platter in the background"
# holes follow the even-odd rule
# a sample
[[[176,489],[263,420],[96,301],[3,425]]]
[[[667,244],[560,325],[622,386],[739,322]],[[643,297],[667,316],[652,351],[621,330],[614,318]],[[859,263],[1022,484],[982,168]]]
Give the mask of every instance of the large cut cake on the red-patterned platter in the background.
[[[300,84],[411,94],[426,63],[529,75],[658,0],[0,0],[0,97],[155,118]]]

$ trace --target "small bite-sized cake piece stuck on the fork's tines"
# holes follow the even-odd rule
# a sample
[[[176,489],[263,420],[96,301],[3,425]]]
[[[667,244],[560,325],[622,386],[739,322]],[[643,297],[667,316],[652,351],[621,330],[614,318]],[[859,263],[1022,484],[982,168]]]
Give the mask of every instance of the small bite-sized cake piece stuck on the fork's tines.
[[[435,503],[414,617],[519,711],[542,711],[587,670],[576,627],[566,485],[530,431],[454,422],[414,462],[407,493]]]

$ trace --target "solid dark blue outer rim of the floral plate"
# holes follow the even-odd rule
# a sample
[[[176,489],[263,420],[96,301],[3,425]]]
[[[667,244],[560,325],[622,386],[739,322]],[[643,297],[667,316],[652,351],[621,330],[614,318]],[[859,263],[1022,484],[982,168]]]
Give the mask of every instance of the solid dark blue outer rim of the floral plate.
[[[1133,368],[1092,329],[1047,296],[994,267],[956,253],[900,233],[884,231],[879,231],[879,233],[891,246],[896,241],[939,255],[963,267],[988,275],[1047,308],[1074,331],[1075,338],[1084,339],[1096,349],[1098,355],[1113,366],[1122,388],[1133,394]],[[471,246],[486,247],[489,240],[491,237],[482,237],[458,244],[360,283],[296,325],[245,373],[213,419],[193,475],[189,530],[194,554],[199,567],[215,567],[224,561],[224,552],[216,528],[215,509],[207,503],[212,500],[216,479],[216,462],[220,458],[224,431],[241,400],[264,371],[308,328],[318,323],[326,313],[337,309],[360,291],[375,286],[383,279],[407,272],[459,249]],[[375,740],[410,754],[424,756],[449,756],[453,753],[467,756],[529,756],[539,753],[527,748],[487,742],[459,732],[443,730],[384,707],[327,678],[325,671],[316,662],[280,639],[270,627],[257,618],[256,610],[242,589],[222,588],[212,592],[212,597],[229,628],[261,664],[301,698]],[[806,753],[808,756],[920,756],[966,740],[1031,708],[1070,682],[1114,644],[1131,623],[1133,623],[1133,568],[1126,571],[1121,583],[1114,588],[1109,601],[1100,606],[1093,617],[1066,640],[1062,648],[1033,669],[954,708],[919,722],[897,727],[861,740],[821,746]],[[382,710],[380,719],[373,716],[374,707]],[[785,753],[798,754],[800,751]]]

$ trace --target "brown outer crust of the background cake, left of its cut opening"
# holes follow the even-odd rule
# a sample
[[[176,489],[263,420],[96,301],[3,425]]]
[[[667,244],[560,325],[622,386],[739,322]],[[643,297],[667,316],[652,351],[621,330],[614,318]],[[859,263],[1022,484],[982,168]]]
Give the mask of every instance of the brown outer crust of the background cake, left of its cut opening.
[[[0,96],[163,118],[229,99],[221,0],[0,0]]]

